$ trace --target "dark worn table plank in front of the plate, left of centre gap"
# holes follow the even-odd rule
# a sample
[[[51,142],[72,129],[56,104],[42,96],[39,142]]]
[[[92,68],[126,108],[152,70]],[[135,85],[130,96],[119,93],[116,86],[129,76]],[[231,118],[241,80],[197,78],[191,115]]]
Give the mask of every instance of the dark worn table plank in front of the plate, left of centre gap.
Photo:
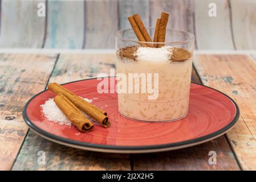
[[[45,152],[46,164],[38,164],[38,152]],[[129,170],[129,155],[83,151],[39,137],[26,137],[12,170]]]

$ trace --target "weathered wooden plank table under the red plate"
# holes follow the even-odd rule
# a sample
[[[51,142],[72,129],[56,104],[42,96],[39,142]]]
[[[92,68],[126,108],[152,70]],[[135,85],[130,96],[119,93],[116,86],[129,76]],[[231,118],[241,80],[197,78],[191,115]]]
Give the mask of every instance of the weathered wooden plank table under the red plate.
[[[153,154],[105,154],[52,143],[22,119],[22,107],[48,82],[96,77],[115,68],[112,51],[0,54],[0,169],[5,170],[250,170],[256,169],[256,52],[197,52],[195,82],[232,97],[241,110],[226,135],[183,150]],[[38,152],[46,153],[39,165]],[[209,152],[217,152],[210,165]]]

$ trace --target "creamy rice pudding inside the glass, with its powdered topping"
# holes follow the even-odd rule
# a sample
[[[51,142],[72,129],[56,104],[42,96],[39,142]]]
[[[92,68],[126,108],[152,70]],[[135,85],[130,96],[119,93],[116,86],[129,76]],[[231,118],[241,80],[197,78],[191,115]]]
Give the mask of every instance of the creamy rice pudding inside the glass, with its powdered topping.
[[[133,46],[120,49],[117,57],[117,73],[123,73],[127,78],[128,73],[159,74],[158,97],[155,100],[148,99],[151,95],[148,92],[118,93],[118,109],[122,115],[151,122],[173,121],[186,116],[192,72],[189,51],[173,47]],[[147,83],[139,82],[140,88],[145,86],[143,84]]]

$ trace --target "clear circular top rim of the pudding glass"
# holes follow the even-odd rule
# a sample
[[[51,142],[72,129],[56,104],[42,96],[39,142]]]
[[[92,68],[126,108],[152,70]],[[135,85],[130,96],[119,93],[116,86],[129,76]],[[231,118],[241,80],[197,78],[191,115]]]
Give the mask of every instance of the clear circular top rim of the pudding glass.
[[[154,28],[154,27],[146,27],[146,28],[152,29],[152,28]],[[154,29],[155,29],[155,28],[154,28]],[[124,29],[121,29],[121,30],[117,31],[116,34],[115,34],[115,37],[118,38],[118,39],[121,39],[121,40],[129,41],[129,42],[134,42],[134,43],[147,43],[147,44],[177,44],[177,43],[186,43],[186,42],[190,42],[190,41],[193,40],[194,37],[195,37],[194,34],[192,34],[191,32],[183,31],[183,30],[177,30],[177,29],[173,29],[173,28],[166,28],[166,30],[176,31],[176,32],[182,32],[182,33],[188,34],[188,35],[189,35],[189,39],[182,40],[182,41],[176,41],[176,42],[143,42],[143,41],[139,41],[139,40],[133,40],[133,39],[122,38],[122,37],[120,37],[120,36],[117,35],[117,34],[119,34],[119,32],[127,31],[127,30],[132,30],[132,28],[124,28]]]

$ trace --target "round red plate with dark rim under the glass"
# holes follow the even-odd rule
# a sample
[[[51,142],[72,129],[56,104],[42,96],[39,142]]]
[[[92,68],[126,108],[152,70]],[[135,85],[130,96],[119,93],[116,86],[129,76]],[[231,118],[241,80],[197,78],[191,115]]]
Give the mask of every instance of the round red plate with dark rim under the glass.
[[[122,117],[117,111],[117,94],[97,93],[96,78],[63,84],[85,98],[98,98],[92,104],[107,111],[111,126],[95,123],[88,133],[76,127],[48,121],[40,105],[55,96],[49,90],[32,97],[23,108],[23,118],[30,129],[53,142],[84,150],[119,153],[143,153],[175,150],[220,137],[235,125],[237,104],[224,93],[207,86],[191,84],[188,116],[174,122],[138,122]]]

